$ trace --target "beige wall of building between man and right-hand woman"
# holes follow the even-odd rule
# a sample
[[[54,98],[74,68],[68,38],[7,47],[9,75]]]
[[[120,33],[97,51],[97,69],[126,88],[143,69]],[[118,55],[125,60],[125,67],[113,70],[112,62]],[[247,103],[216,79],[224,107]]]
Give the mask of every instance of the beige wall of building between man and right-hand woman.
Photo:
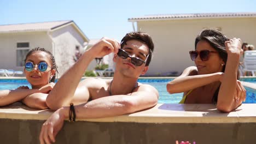
[[[139,21],[137,29],[150,34],[155,44],[154,57],[147,74],[168,71],[181,73],[194,65],[189,51],[194,50],[195,38],[203,28],[222,28],[229,38],[241,38],[256,46],[255,23],[255,18]]]

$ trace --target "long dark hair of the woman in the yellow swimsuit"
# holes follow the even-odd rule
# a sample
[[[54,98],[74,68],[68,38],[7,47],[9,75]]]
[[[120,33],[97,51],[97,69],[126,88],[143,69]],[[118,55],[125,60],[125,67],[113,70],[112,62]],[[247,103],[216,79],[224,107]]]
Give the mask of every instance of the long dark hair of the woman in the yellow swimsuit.
[[[218,31],[217,29],[203,29],[196,37],[195,39],[195,49],[196,45],[199,41],[204,40],[208,44],[210,44],[218,53],[220,58],[223,59],[225,62],[225,65],[223,66],[222,72],[224,73],[225,68],[226,68],[226,61],[228,59],[228,53],[226,52],[226,47],[225,47],[225,41],[228,41],[229,38],[226,37],[222,32]],[[237,79],[239,79],[239,71],[237,70]],[[213,96],[213,101],[214,103],[217,103],[218,100],[218,93],[219,93],[219,88],[216,90]]]

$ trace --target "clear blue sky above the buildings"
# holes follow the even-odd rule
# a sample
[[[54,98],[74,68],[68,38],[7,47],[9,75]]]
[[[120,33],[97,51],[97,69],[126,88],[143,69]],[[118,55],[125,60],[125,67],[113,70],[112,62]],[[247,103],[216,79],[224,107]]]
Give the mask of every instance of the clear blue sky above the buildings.
[[[0,1],[0,25],[73,20],[89,39],[103,36],[121,40],[131,32],[127,19],[153,14],[256,13],[255,0],[176,0],[176,1]]]

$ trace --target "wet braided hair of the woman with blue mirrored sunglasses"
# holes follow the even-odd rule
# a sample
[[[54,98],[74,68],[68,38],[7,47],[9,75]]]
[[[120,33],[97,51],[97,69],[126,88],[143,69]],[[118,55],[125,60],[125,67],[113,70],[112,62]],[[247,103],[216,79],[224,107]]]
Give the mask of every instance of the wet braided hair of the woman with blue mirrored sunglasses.
[[[56,72],[59,73],[58,70],[57,70],[57,64],[56,64],[56,62],[55,62],[55,58],[54,58],[53,54],[52,54],[50,51],[45,50],[43,47],[36,47],[36,48],[31,49],[30,51],[28,51],[28,53],[27,53],[27,55],[26,55],[26,58],[25,58],[25,60],[24,60],[25,63],[26,63],[26,60],[27,60],[27,57],[28,57],[28,56],[30,56],[32,53],[38,52],[38,51],[42,51],[42,52],[48,53],[48,54],[50,55],[51,63],[53,64],[53,67],[51,67],[51,69],[55,69]],[[55,82],[55,80],[56,80],[56,73],[55,73],[54,76],[51,78],[50,82]]]

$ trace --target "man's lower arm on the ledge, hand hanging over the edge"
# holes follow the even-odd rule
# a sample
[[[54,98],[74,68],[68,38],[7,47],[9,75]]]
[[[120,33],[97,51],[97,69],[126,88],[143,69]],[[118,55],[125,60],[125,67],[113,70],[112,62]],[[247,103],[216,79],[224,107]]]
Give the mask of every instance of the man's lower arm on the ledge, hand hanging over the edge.
[[[152,86],[141,86],[143,92],[102,97],[74,106],[75,114],[77,118],[101,118],[148,109],[156,105],[158,101],[158,92],[149,87]],[[62,128],[64,119],[68,116],[69,107],[62,107],[55,111],[42,126],[40,142],[55,142],[55,136]]]

